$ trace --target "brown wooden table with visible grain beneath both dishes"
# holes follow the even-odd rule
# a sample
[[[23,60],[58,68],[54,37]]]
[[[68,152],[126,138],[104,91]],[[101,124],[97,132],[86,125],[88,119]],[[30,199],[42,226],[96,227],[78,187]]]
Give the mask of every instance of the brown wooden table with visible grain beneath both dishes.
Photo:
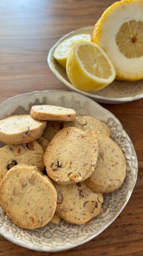
[[[57,40],[81,27],[94,26],[113,0],[1,0],[0,103],[36,90],[68,90],[50,71],[47,54]],[[74,249],[49,253],[26,249],[0,236],[6,255],[143,255],[143,98],[101,104],[120,120],[138,158],[138,178],[119,217],[98,237]]]

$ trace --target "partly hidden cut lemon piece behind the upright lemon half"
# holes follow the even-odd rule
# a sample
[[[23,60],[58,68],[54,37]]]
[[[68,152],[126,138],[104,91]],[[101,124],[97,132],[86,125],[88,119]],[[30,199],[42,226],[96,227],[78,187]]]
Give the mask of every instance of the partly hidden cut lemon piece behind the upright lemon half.
[[[80,40],[91,41],[92,36],[89,34],[74,35],[59,43],[57,48],[55,48],[54,58],[58,61],[60,65],[62,65],[63,68],[66,68],[67,56],[68,53],[71,51],[73,44]]]

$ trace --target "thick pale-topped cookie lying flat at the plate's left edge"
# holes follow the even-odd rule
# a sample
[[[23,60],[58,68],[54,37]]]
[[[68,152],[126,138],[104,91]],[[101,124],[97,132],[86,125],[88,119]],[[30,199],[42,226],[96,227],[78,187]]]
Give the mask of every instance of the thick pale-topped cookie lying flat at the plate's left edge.
[[[11,115],[0,120],[0,141],[5,144],[22,144],[40,138],[46,121],[36,120],[31,115]]]

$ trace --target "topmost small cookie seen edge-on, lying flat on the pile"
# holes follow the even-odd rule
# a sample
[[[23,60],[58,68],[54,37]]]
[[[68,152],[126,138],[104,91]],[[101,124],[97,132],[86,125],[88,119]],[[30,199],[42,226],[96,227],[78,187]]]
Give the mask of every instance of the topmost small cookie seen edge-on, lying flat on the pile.
[[[53,105],[32,106],[30,113],[33,118],[49,121],[73,121],[76,117],[75,110]]]

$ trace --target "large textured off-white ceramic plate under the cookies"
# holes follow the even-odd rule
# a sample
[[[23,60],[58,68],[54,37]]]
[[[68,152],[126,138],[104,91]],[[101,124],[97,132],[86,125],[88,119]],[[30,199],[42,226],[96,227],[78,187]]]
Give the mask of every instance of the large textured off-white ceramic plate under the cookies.
[[[73,225],[61,221],[59,225],[47,224],[43,228],[19,228],[0,207],[0,234],[20,246],[39,251],[70,249],[98,236],[111,224],[127,204],[137,179],[137,158],[133,144],[118,119],[90,98],[76,92],[33,92],[10,98],[0,105],[0,119],[11,114],[29,114],[32,105],[59,105],[73,108],[78,115],[92,115],[107,123],[111,138],[122,149],[127,164],[127,175],[122,187],[104,195],[102,212],[89,224]],[[2,144],[0,144],[0,147]]]

